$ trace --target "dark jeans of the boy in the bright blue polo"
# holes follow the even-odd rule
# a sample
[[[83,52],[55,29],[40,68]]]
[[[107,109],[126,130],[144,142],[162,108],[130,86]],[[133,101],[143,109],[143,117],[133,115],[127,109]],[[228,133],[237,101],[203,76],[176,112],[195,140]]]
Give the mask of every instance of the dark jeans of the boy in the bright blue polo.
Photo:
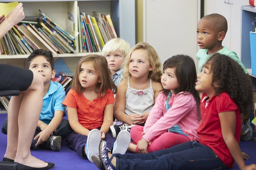
[[[3,121],[3,125],[2,125],[2,133],[3,134],[7,134],[7,122],[8,122],[8,117],[6,117],[6,119]],[[40,127],[36,127],[35,129],[35,134],[32,140],[32,144],[31,144],[31,148],[36,150],[38,147],[35,146],[35,144],[38,142],[38,139],[34,140],[35,136],[38,135],[38,133],[40,133],[42,130],[40,129]],[[58,126],[57,130],[55,132],[53,132],[54,136],[61,136],[61,139],[65,139],[67,134],[70,133],[71,131],[73,131],[69,125],[69,122],[67,119],[63,119],[61,124]],[[43,146],[43,145],[41,145]]]

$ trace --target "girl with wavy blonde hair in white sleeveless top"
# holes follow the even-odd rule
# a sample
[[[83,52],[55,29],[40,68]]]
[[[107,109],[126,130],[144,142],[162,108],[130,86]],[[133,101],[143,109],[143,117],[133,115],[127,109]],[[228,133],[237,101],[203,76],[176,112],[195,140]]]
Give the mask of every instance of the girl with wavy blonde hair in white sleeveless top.
[[[122,82],[118,85],[114,116],[124,122],[110,127],[116,137],[130,125],[143,125],[163,89],[161,62],[154,48],[147,42],[136,44],[124,62]]]

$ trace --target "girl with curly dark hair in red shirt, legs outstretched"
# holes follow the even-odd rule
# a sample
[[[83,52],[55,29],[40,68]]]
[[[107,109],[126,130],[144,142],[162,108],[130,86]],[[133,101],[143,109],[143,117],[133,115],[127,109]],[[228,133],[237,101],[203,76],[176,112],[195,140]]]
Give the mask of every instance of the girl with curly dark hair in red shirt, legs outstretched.
[[[102,141],[99,148],[102,167],[108,170],[213,170],[232,168],[236,161],[241,170],[256,170],[255,164],[245,165],[239,148],[240,113],[248,113],[253,102],[252,86],[241,66],[226,55],[213,54],[198,74],[195,89],[203,93],[197,141],[131,155],[112,155]]]

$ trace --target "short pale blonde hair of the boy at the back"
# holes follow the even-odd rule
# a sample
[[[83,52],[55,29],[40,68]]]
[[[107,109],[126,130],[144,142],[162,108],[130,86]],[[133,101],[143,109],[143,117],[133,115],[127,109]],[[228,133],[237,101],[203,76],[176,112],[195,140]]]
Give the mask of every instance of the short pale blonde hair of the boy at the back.
[[[114,38],[109,40],[102,49],[102,55],[106,57],[108,53],[113,53],[116,50],[122,51],[125,58],[131,50],[130,44],[122,38]]]

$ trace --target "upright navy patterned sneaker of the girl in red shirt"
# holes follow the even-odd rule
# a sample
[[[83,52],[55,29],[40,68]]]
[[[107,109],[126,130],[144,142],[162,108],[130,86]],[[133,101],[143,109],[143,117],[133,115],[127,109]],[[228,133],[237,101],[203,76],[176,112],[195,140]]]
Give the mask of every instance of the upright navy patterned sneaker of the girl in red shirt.
[[[113,159],[113,155],[111,156],[111,159],[108,158],[108,149],[107,149],[107,142],[102,141],[99,145],[99,159],[101,160],[103,167],[105,170],[115,170],[116,168],[111,163],[111,160]]]

